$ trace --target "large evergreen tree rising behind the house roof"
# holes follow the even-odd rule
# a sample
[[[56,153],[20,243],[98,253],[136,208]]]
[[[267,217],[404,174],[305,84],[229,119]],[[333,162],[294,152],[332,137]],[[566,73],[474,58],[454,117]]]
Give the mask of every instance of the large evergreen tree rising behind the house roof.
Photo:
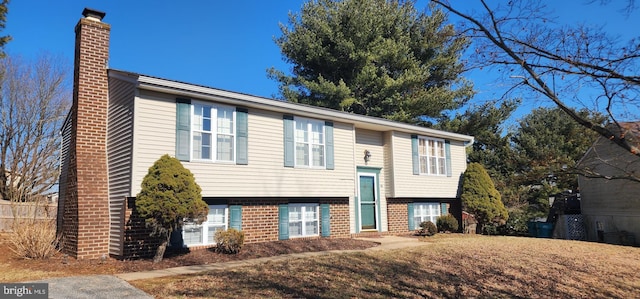
[[[419,124],[472,95],[468,40],[413,1],[311,0],[276,39],[292,75],[270,69],[291,102]]]

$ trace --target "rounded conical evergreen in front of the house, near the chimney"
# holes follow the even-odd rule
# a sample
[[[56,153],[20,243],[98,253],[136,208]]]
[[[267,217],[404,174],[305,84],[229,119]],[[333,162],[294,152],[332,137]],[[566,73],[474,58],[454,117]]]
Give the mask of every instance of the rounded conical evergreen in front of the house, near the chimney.
[[[206,220],[209,207],[201,192],[191,171],[176,158],[164,155],[149,168],[136,196],[136,209],[153,234],[161,238],[154,262],[162,260],[171,232],[179,229],[184,219]]]

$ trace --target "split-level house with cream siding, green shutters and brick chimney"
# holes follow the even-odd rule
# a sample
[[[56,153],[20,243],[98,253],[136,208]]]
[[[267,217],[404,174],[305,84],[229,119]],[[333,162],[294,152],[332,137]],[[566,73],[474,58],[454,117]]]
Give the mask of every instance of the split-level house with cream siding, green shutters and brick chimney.
[[[175,234],[189,248],[230,227],[265,242],[461,218],[473,137],[109,69],[105,13],[83,15],[62,134],[58,232],[71,256],[149,254],[135,196],[164,154],[194,174],[209,204],[206,222]]]

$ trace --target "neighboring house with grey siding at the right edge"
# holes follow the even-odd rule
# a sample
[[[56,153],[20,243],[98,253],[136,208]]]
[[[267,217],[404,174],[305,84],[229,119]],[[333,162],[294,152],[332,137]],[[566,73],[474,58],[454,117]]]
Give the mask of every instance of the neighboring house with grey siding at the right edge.
[[[640,139],[640,122],[622,123],[625,136]],[[614,244],[638,245],[640,238],[640,183],[617,177],[640,174],[640,159],[610,140],[600,137],[580,160],[578,167],[604,178],[578,177],[580,208],[587,239]]]

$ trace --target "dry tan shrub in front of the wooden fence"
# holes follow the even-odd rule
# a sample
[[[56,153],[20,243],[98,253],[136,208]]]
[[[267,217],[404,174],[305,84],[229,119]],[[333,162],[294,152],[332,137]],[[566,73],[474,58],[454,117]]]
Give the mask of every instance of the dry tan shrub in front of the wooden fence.
[[[58,252],[55,220],[16,221],[9,241],[19,258],[47,259]]]

